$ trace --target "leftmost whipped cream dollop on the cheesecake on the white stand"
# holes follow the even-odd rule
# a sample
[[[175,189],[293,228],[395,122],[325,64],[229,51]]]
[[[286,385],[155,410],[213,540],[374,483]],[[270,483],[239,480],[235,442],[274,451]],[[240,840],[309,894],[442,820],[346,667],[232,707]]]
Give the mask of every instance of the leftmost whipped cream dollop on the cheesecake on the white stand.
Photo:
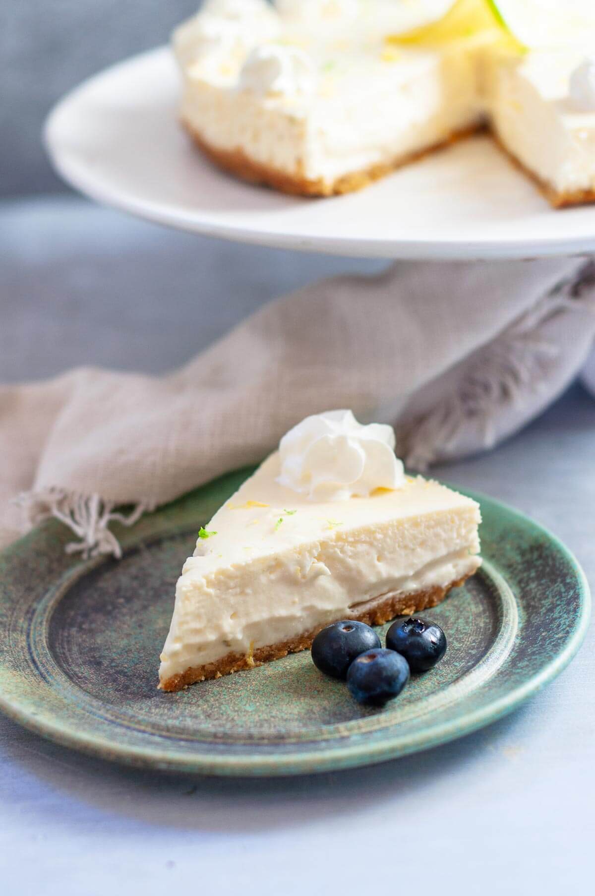
[[[172,36],[180,65],[246,54],[280,35],[280,16],[266,0],[207,0]]]

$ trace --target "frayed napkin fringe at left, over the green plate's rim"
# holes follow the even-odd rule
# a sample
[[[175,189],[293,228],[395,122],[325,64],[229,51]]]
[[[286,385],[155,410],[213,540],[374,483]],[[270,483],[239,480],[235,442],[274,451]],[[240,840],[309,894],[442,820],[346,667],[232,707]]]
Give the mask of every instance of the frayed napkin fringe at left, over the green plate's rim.
[[[108,528],[110,523],[134,526],[143,513],[155,509],[149,501],[140,501],[134,504],[130,513],[125,514],[116,510],[115,502],[104,501],[100,495],[81,495],[65,488],[23,492],[15,498],[15,504],[23,508],[30,525],[51,518],[63,522],[79,539],[69,542],[65,552],[80,553],[84,560],[99,554],[111,554],[119,560],[122,547]]]

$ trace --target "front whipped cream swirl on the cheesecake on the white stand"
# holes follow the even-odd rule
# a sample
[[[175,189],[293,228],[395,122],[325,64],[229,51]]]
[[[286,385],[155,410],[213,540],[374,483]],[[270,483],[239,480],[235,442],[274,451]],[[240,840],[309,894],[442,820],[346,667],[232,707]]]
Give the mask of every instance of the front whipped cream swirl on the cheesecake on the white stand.
[[[239,90],[258,96],[292,97],[315,90],[315,66],[297,47],[263,44],[254,47],[239,73]]]

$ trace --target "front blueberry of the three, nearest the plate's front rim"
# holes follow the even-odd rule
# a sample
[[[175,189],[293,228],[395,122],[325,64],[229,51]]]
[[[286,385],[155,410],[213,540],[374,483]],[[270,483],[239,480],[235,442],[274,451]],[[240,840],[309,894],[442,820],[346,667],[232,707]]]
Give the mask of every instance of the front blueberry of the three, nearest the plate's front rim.
[[[347,673],[347,686],[359,703],[382,706],[401,694],[409,681],[407,660],[394,650],[366,650],[354,659]]]

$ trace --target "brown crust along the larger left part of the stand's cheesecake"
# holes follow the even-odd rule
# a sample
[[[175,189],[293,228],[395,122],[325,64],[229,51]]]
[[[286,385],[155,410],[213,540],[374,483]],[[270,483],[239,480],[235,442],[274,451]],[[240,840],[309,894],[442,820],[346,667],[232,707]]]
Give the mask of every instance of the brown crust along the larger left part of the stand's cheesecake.
[[[246,155],[246,152],[239,147],[235,150],[221,150],[219,147],[213,146],[211,143],[205,141],[202,134],[200,134],[193,125],[190,125],[189,122],[185,121],[185,119],[182,119],[182,125],[204,155],[207,156],[208,159],[211,159],[211,161],[219,168],[223,168],[225,171],[229,171],[231,174],[236,175],[236,177],[240,177],[242,180],[246,180],[251,184],[270,186],[280,193],[287,193],[294,196],[337,196],[346,193],[354,193],[357,190],[363,189],[365,186],[373,184],[381,177],[391,174],[391,172],[395,171],[397,168],[402,168],[405,165],[409,165],[411,162],[423,159],[424,156],[430,155],[430,153],[443,150],[445,147],[450,146],[465,137],[469,137],[471,134],[476,134],[485,126],[481,123],[478,125],[471,125],[470,127],[461,129],[461,131],[456,131],[453,134],[450,134],[445,140],[434,143],[432,146],[427,146],[424,150],[410,152],[406,156],[399,156],[392,162],[383,165],[373,165],[371,168],[366,168],[362,171],[353,171],[334,181],[326,181],[323,178],[318,178],[316,180],[308,179],[301,171],[298,171],[295,175],[291,175],[286,171],[279,171],[277,168],[263,165],[261,162],[251,159]]]

